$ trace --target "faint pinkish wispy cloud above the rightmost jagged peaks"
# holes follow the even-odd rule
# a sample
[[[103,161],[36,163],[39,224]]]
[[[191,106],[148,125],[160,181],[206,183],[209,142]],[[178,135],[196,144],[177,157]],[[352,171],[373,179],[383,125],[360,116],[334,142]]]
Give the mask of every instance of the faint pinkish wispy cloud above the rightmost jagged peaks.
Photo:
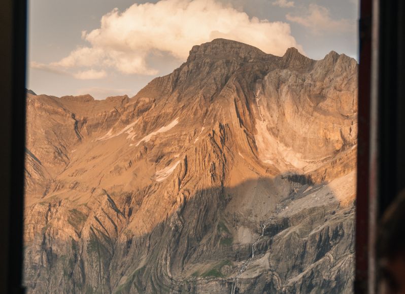
[[[348,19],[332,19],[330,11],[323,6],[310,4],[308,12],[304,16],[287,14],[287,20],[308,27],[314,34],[322,32],[345,32],[355,29],[354,24]]]

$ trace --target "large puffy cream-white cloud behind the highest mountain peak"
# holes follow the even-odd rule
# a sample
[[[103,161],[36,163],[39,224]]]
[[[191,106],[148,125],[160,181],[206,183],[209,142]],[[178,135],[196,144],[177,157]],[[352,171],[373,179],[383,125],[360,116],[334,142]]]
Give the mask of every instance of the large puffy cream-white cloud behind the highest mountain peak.
[[[89,46],[72,51],[52,66],[156,75],[158,71],[147,64],[151,54],[167,52],[185,60],[192,46],[215,38],[240,41],[275,55],[283,55],[289,47],[301,50],[289,24],[249,18],[219,0],[134,4],[124,12],[114,9],[103,16],[99,28],[81,33]]]

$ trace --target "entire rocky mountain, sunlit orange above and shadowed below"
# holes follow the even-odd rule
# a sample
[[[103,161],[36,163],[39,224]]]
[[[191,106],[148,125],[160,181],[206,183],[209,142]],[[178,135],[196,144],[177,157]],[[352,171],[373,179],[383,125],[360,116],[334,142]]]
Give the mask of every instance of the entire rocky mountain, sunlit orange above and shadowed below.
[[[28,292],[352,292],[357,67],[217,39],[132,98],[28,93]]]

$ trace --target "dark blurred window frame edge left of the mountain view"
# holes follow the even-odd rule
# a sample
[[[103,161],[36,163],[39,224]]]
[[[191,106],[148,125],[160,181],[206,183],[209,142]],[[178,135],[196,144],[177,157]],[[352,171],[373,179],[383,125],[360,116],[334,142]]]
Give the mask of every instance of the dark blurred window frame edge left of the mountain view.
[[[24,293],[22,228],[25,153],[27,3],[4,0],[0,8],[0,293]]]

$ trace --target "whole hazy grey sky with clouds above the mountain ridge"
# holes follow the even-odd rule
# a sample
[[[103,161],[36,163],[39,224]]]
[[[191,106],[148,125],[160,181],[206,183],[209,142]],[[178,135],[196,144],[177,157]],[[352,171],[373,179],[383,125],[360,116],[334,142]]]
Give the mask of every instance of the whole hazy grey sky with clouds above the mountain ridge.
[[[29,0],[27,88],[134,96],[216,38],[358,60],[358,0]]]

